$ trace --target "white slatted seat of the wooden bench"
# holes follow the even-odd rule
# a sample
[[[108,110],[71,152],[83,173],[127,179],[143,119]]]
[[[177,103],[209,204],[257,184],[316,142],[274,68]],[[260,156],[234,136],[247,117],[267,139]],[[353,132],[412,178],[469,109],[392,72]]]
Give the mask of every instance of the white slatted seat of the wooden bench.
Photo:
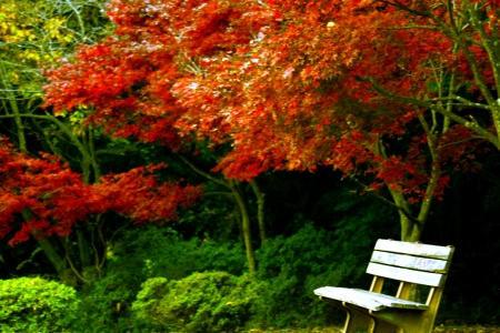
[[[399,307],[410,310],[428,310],[429,305],[412,301],[400,300],[393,296],[373,293],[359,289],[323,286],[314,290],[314,294],[359,305],[372,311],[380,311],[386,307]]]

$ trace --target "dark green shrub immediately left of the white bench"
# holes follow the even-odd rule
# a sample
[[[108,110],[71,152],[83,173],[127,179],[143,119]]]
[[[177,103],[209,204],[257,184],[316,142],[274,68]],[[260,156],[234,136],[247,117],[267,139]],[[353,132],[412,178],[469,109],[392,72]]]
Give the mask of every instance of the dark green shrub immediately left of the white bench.
[[[257,253],[257,276],[269,283],[260,301],[266,310],[253,320],[259,326],[306,326],[326,324],[331,309],[319,302],[312,291],[324,285],[339,285],[358,271],[336,265],[339,253],[332,246],[333,232],[316,230],[307,224],[290,238],[268,240]]]

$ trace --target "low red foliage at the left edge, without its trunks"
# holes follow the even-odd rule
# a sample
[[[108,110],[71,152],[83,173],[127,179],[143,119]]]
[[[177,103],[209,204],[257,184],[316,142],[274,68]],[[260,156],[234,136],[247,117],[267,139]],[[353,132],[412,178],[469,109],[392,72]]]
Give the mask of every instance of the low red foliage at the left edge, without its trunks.
[[[201,195],[200,186],[160,183],[159,167],[137,168],[84,184],[81,174],[59,161],[16,152],[0,138],[0,239],[13,229],[11,245],[30,236],[67,236],[91,214],[114,212],[137,223],[177,219]]]

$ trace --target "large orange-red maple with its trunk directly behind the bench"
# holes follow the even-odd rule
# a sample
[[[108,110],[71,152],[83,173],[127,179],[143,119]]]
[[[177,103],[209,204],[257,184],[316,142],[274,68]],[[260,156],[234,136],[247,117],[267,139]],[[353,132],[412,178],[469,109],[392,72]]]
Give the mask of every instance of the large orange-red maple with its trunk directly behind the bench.
[[[461,6],[494,12],[489,2]],[[270,1],[248,10],[246,23],[233,24],[266,19],[253,38],[200,57],[199,72],[178,80],[173,93],[187,109],[178,127],[233,142],[218,167],[228,176],[332,165],[398,210],[402,240],[419,240],[449,181],[443,167],[477,168],[478,145],[498,144],[494,112],[484,119],[474,94],[476,62],[484,81],[494,59],[474,43],[459,50],[444,33],[462,16],[452,39],[474,34],[464,10],[439,1]],[[491,80],[481,87],[494,90]],[[360,181],[367,176],[371,184]]]

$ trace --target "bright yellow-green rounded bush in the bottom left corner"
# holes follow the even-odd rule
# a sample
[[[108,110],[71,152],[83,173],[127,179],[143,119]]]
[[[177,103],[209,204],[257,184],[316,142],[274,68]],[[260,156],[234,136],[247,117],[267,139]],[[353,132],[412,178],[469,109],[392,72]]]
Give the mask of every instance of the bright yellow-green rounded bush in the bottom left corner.
[[[72,287],[40,278],[0,281],[1,332],[70,332],[78,299]]]

